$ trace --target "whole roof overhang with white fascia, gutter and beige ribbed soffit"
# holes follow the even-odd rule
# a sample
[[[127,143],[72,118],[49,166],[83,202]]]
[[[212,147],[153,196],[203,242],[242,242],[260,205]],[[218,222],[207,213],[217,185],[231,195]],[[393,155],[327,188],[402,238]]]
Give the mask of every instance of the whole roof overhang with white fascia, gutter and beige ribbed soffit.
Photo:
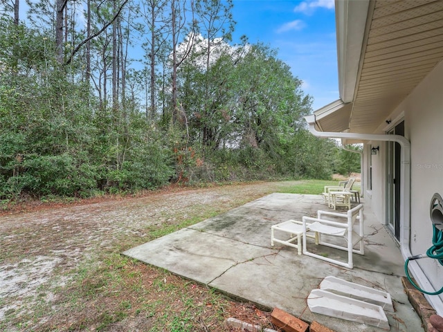
[[[314,112],[321,131],[381,133],[443,60],[443,1],[336,0],[341,101]]]

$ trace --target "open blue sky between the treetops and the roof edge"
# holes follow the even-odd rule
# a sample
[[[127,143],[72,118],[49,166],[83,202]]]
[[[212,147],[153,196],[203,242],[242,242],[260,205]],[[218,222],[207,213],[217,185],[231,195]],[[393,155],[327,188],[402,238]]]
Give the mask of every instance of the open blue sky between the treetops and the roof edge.
[[[338,99],[334,0],[233,0],[233,42],[246,35],[278,50],[303,81],[312,109]]]

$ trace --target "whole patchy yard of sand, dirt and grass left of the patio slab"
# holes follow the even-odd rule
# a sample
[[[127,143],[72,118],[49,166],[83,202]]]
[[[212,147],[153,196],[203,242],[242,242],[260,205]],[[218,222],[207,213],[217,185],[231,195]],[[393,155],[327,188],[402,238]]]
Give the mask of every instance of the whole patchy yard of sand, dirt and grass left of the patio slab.
[[[228,331],[269,313],[120,255],[282,186],[168,188],[0,216],[0,331]],[[233,330],[231,330],[233,331]]]

